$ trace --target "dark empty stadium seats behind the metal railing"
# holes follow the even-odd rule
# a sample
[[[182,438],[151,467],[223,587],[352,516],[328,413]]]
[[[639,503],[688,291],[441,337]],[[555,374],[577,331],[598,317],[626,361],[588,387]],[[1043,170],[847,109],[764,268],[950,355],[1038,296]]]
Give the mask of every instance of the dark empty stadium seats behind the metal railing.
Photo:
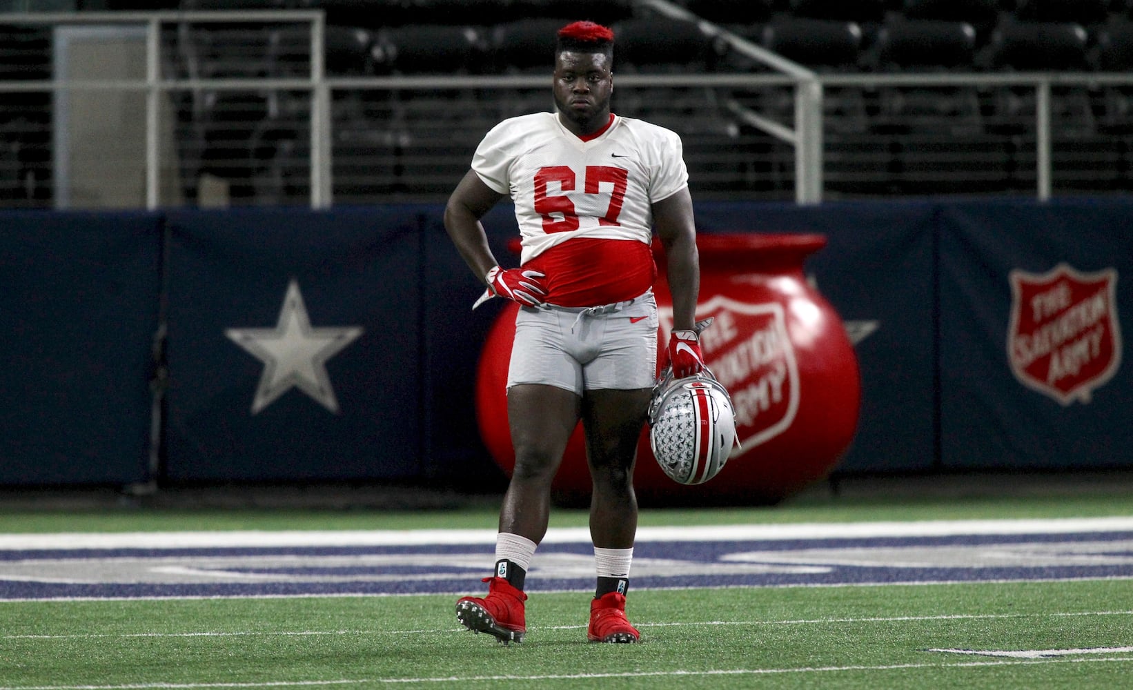
[[[1133,71],[1133,0],[671,1],[824,75]],[[726,51],[726,43],[706,36],[697,22],[634,0],[107,0],[103,6],[321,9],[331,78],[547,74],[554,31],[583,17],[617,32],[619,75],[768,71],[749,56]],[[305,79],[310,73],[303,23],[171,23],[161,40],[168,78]],[[50,29],[0,26],[0,80],[50,76]],[[187,198],[196,198],[195,180],[210,173],[230,181],[236,203],[306,201],[306,90],[182,88],[169,97]],[[438,198],[467,169],[471,147],[488,127],[552,108],[545,86],[334,86],[331,97],[332,177],[343,202]],[[1033,86],[827,85],[827,187],[835,196],[963,191],[964,185],[986,191],[1002,182],[981,179],[983,170],[1006,167],[1017,171],[1005,176],[1008,190],[1033,188],[1034,97]],[[1055,85],[1051,101],[1060,184],[1130,187],[1133,88],[1106,82]],[[791,187],[791,147],[739,112],[750,109],[790,127],[789,86],[621,86],[614,107],[680,131],[695,191],[782,194]],[[0,93],[0,205],[50,203],[51,108],[46,93]],[[996,157],[1004,150],[1011,154],[1006,163]],[[948,167],[949,160],[960,163]],[[1104,179],[1104,165],[1115,168],[1116,181]],[[925,181],[934,179],[939,184]]]

